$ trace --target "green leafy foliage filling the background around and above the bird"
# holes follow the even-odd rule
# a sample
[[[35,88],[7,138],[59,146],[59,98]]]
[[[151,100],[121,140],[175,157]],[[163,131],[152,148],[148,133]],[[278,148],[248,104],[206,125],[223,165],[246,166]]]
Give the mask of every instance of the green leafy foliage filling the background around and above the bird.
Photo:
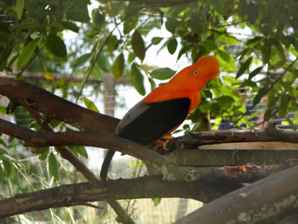
[[[89,0],[3,1],[4,14],[10,19],[0,21],[0,70],[13,73],[16,63],[18,71],[14,75],[18,77],[26,70],[42,72],[50,77],[47,87],[53,92],[67,85],[65,81],[59,84],[53,80],[50,74],[54,72],[83,73],[86,79],[92,75],[100,81],[102,73],[114,73],[115,79],[131,80],[136,91],[145,95],[145,82],[150,82],[153,88],[155,82],[175,75],[172,69],[175,65],[145,69],[151,48],[167,51],[168,57],[177,57],[177,63],[182,58],[190,64],[204,55],[215,55],[221,63],[222,75],[211,80],[202,91],[200,106],[190,114],[191,124],[182,127],[184,132],[219,129],[223,123],[226,128],[253,127],[252,119],[260,114],[265,121],[273,116],[285,118],[295,128],[298,1],[280,4],[278,0],[207,0],[172,6],[160,1],[159,4],[99,0],[90,18]],[[152,35],[153,30],[160,31],[158,36]],[[78,36],[67,41],[65,31]],[[187,65],[181,67],[184,66]],[[61,90],[63,97],[67,91]],[[264,100],[265,112],[261,113],[263,109],[258,106]],[[250,107],[246,107],[248,101]],[[87,97],[84,103],[90,110],[98,111]],[[3,112],[0,107],[0,113]],[[289,112],[294,117],[288,117]],[[28,114],[24,116],[26,122],[22,125],[40,130]],[[16,122],[21,122],[17,113]],[[60,130],[67,129],[57,121],[50,124]],[[21,165],[11,159],[8,148],[16,146],[12,142],[9,145],[0,142],[0,183],[9,183],[20,178],[21,171],[26,172],[17,171]],[[71,147],[71,150],[87,157],[84,147]],[[62,178],[63,166],[59,166],[59,157],[53,149],[38,149],[33,153],[40,161],[48,162],[48,179]],[[158,204],[159,199],[154,203]]]

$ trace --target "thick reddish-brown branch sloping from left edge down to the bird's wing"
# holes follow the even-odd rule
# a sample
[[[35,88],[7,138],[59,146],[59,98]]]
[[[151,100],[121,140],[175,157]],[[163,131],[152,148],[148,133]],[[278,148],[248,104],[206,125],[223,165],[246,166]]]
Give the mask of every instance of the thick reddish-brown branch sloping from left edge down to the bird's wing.
[[[50,119],[59,119],[78,129],[114,133],[119,122],[114,117],[80,107],[68,100],[0,73],[0,95],[5,95],[15,105],[26,105]]]

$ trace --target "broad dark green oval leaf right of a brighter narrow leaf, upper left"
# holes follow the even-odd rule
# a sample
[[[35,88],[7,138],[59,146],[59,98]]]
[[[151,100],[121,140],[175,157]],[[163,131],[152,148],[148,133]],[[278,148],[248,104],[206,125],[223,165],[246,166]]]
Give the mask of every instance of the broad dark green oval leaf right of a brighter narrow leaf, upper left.
[[[67,50],[64,41],[54,33],[50,33],[45,41],[46,48],[57,57],[67,58]]]

